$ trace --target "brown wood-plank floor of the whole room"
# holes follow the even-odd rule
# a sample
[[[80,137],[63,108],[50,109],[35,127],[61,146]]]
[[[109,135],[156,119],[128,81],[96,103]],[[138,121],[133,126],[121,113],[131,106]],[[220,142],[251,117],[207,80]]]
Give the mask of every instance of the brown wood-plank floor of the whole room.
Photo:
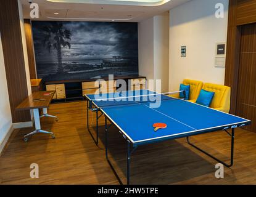
[[[42,127],[54,132],[56,139],[38,134],[26,143],[23,135],[33,128],[15,130],[0,157],[0,183],[118,184],[105,160],[104,119],[97,147],[86,128],[85,104],[51,105],[49,113],[58,116],[59,122],[43,118]],[[91,131],[95,118],[92,120]],[[229,140],[223,131],[192,137],[192,142],[225,161]],[[110,129],[109,145],[112,161],[125,178],[126,143],[114,127]],[[39,165],[39,179],[30,178],[31,163]],[[190,147],[185,139],[146,145],[131,157],[131,184],[256,184],[256,134],[236,130],[234,166],[225,167],[225,179],[215,178],[216,163]]]

